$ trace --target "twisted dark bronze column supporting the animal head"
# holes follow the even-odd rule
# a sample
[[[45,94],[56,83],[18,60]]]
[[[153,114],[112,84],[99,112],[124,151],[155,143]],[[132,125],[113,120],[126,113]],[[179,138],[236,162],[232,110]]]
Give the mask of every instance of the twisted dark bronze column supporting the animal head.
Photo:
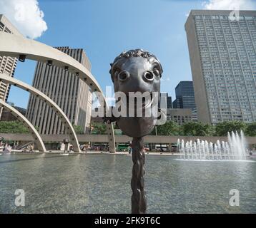
[[[144,195],[144,142],[143,138],[132,139],[132,214],[144,214],[147,209],[147,199]]]

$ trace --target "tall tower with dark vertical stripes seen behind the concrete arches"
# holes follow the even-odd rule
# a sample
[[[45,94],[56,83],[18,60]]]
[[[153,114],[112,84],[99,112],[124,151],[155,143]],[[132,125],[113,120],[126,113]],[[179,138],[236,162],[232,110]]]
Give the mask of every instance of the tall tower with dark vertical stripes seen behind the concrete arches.
[[[72,56],[91,71],[91,63],[83,49],[69,47],[57,49]],[[57,66],[38,62],[33,86],[54,100],[73,125],[81,126],[84,133],[88,132],[92,112],[92,93],[84,81]],[[41,134],[65,133],[64,125],[56,113],[34,95],[29,97],[26,118],[39,128]]]

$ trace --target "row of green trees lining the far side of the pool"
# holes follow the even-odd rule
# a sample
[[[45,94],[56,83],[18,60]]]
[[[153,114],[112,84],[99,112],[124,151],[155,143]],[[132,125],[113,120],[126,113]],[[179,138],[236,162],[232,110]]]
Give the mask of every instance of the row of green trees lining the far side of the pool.
[[[81,126],[74,125],[74,130],[77,134],[83,134]],[[226,136],[227,132],[240,130],[243,130],[247,136],[256,136],[256,123],[246,124],[239,121],[230,121],[210,125],[188,122],[184,125],[177,125],[173,121],[167,121],[164,125],[156,126],[151,135]],[[29,133],[29,130],[18,120],[0,121],[0,133]],[[91,134],[106,134],[106,125],[91,123]]]

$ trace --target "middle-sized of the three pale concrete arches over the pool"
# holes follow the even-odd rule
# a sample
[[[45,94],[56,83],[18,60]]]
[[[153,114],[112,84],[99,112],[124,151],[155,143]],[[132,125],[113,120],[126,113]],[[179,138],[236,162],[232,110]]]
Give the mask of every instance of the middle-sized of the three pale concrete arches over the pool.
[[[65,113],[61,110],[61,108],[59,108],[59,106],[56,103],[54,103],[54,101],[51,100],[51,98],[49,98],[48,96],[46,96],[44,93],[37,90],[33,86],[29,86],[28,84],[22,81],[19,81],[15,78],[11,78],[10,76],[7,76],[4,73],[0,73],[0,81],[4,81],[5,83],[9,83],[11,85],[17,86],[23,90],[26,90],[32,93],[33,95],[36,95],[36,97],[38,97],[39,99],[44,100],[44,102],[55,111],[56,115],[59,116],[62,123],[64,123],[64,126],[67,130],[67,134],[69,135],[69,138],[70,138],[70,142],[73,145],[74,152],[80,152],[77,135],[74,131],[72,124],[69,121],[69,118],[67,118],[67,115],[65,115]]]

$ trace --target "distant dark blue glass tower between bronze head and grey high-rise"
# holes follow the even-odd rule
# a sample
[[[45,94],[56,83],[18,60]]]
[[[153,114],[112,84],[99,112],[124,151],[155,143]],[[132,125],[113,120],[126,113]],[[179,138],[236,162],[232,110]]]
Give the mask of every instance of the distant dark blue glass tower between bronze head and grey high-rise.
[[[191,108],[196,109],[195,93],[192,81],[180,81],[175,88],[176,100],[173,108]]]

